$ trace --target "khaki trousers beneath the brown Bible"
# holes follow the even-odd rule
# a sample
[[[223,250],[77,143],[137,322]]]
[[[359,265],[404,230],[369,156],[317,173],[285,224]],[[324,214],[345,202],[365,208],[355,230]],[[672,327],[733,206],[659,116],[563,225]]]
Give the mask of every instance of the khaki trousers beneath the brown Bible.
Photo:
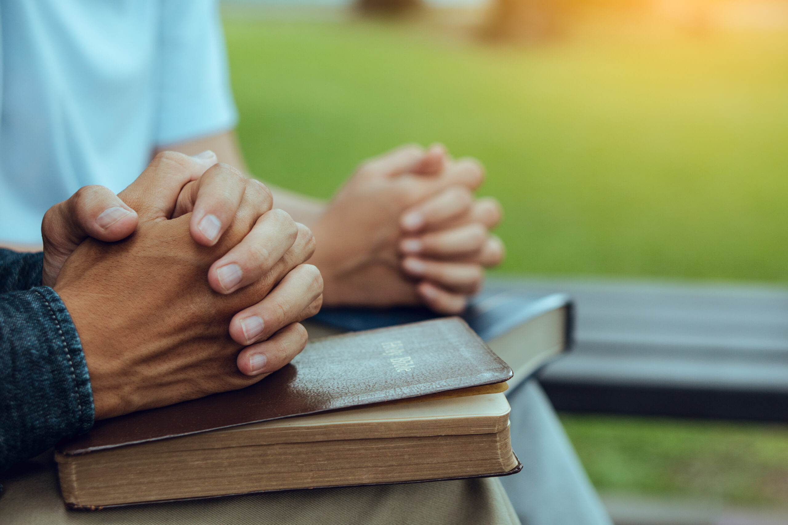
[[[0,523],[4,525],[520,523],[497,478],[288,490],[81,512],[66,510],[63,505],[57,468],[47,453],[6,472],[2,484],[5,494],[0,497]]]

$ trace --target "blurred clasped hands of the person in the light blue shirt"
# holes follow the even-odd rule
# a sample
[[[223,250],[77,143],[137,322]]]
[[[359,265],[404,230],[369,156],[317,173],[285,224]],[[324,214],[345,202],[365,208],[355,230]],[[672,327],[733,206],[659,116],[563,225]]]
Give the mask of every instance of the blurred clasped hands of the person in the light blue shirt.
[[[483,178],[478,162],[454,161],[441,146],[403,146],[362,164],[311,225],[325,305],[461,312],[483,268],[504,257],[488,231],[500,205],[471,193]]]

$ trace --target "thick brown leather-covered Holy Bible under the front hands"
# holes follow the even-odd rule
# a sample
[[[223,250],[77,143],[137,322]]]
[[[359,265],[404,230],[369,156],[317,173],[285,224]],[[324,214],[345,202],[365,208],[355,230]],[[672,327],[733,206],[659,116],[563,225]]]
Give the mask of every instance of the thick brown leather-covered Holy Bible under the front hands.
[[[70,508],[507,475],[511,368],[459,318],[310,342],[261,382],[102,420],[55,455]]]

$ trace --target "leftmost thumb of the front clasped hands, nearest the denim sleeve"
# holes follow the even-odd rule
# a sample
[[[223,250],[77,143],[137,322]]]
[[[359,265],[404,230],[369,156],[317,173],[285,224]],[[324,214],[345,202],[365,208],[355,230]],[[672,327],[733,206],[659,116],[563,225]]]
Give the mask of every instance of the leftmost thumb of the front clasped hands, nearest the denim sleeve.
[[[63,263],[85,238],[117,241],[131,235],[138,222],[137,213],[109,188],[81,187],[69,200],[52,206],[44,215],[43,284],[54,285]]]

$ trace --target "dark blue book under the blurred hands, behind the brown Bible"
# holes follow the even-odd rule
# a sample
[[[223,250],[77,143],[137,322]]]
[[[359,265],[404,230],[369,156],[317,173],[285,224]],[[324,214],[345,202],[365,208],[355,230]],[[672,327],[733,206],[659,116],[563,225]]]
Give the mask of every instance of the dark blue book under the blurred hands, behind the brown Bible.
[[[304,326],[310,336],[319,337],[437,317],[426,308],[323,308]],[[510,391],[572,345],[574,305],[565,294],[485,290],[470,301],[462,318],[515,371]]]

